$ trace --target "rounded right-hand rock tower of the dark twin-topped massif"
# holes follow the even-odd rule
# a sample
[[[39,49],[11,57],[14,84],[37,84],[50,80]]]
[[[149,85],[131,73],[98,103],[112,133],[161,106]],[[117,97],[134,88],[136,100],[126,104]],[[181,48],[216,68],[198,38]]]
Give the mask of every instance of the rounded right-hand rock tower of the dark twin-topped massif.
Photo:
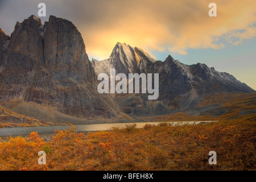
[[[55,16],[49,17],[44,28],[44,64],[53,80],[68,76],[93,82],[93,69],[77,28],[68,20]]]

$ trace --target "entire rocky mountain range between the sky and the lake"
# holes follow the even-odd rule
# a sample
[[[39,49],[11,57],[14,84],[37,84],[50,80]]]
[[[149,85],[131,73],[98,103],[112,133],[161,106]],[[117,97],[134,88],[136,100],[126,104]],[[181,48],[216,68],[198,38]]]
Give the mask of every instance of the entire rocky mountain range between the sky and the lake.
[[[148,93],[98,93],[97,75],[111,68],[126,76],[158,73],[158,99],[148,100]],[[0,29],[0,119],[5,126],[133,122],[181,111],[220,115],[225,112],[220,103],[205,104],[209,97],[253,92],[205,64],[185,65],[171,56],[158,61],[125,43],[118,42],[109,59],[89,61],[75,25],[55,16],[43,25],[31,15],[16,23],[11,36]]]

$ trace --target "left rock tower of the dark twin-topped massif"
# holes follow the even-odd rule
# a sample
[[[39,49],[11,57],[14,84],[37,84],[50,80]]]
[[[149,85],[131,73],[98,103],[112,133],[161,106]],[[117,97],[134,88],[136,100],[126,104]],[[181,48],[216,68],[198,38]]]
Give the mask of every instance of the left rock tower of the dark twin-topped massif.
[[[1,102],[19,98],[31,83],[36,65],[43,59],[43,40],[35,16],[16,23],[9,46],[4,56],[1,75]]]

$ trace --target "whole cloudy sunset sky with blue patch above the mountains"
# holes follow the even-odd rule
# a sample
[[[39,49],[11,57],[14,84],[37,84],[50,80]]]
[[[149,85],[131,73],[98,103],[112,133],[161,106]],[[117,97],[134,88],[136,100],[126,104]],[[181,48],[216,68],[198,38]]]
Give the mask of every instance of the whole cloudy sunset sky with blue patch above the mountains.
[[[117,42],[140,47],[156,60],[168,55],[184,64],[204,63],[256,90],[255,0],[0,0],[0,28],[49,15],[70,20],[81,32],[89,58],[108,59]],[[209,3],[217,17],[210,17]]]

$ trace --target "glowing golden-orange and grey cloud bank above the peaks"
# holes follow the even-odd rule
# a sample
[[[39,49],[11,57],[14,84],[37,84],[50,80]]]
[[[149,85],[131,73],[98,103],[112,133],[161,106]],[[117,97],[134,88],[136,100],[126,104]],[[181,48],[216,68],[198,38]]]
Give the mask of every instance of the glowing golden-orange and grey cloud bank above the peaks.
[[[5,3],[5,13],[8,10],[12,17],[27,18],[28,13],[36,14],[38,10],[37,1],[31,2],[10,0],[12,6]],[[44,3],[47,16],[65,18],[77,26],[89,57],[98,59],[108,58],[117,42],[141,47],[148,53],[168,50],[185,55],[191,48],[224,48],[225,43],[220,39],[237,45],[255,38],[255,0],[214,0],[217,17],[208,16],[208,0],[46,0]],[[22,11],[17,11],[18,14],[12,11],[20,4],[30,5],[23,11],[26,17]],[[3,12],[0,15],[2,20],[9,19]]]

